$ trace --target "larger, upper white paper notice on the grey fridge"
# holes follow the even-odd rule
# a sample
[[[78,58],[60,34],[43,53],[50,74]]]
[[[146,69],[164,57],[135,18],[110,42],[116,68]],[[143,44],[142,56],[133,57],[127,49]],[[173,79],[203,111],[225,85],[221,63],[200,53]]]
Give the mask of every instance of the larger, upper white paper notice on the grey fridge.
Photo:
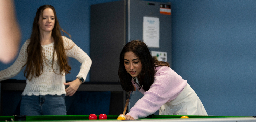
[[[143,42],[148,47],[159,48],[159,18],[143,17]]]

